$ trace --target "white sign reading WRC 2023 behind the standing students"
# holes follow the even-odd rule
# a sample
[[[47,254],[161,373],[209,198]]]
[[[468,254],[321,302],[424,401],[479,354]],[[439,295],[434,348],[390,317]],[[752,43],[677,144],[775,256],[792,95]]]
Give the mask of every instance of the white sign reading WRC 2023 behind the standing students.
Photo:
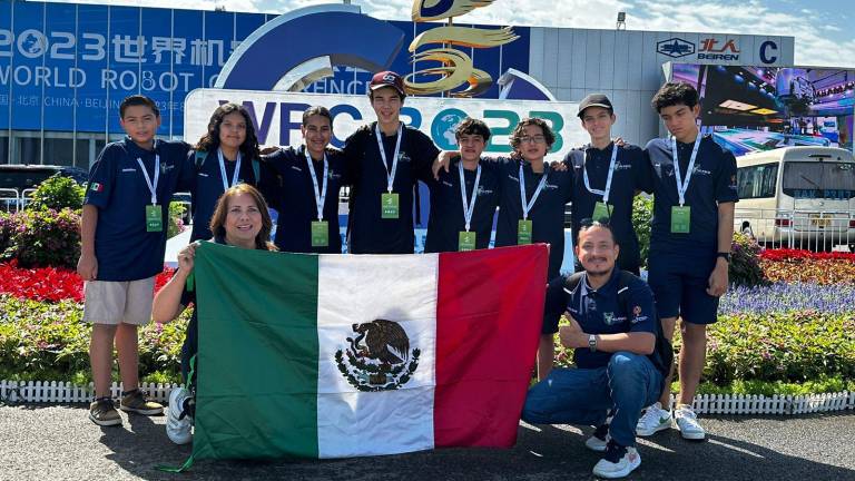
[[[262,145],[299,145],[302,115],[311,106],[330,109],[336,147],[342,147],[344,139],[361,125],[376,119],[367,96],[197,89],[189,92],[185,101],[185,139],[195,141],[205,135],[212,112],[226,101],[242,104],[249,110]],[[509,135],[521,119],[539,117],[556,131],[550,155],[562,158],[572,147],[588,143],[588,135],[576,116],[577,109],[578,104],[561,101],[407,97],[401,116],[442,149],[456,148],[454,127],[458,122],[465,117],[481,118],[492,132],[487,151],[493,154],[510,151]]]

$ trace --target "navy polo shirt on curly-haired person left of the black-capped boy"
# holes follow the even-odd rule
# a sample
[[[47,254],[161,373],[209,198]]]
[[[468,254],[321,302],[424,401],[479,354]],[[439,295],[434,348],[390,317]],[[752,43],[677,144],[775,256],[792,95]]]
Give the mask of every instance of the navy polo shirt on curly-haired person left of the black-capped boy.
[[[571,199],[572,173],[546,167],[544,174],[534,174],[530,163],[517,158],[500,157],[495,163],[501,180],[495,246],[517,245],[517,229],[522,219],[519,178],[522,163],[527,202],[531,200],[541,177],[547,176],[547,184],[529,212],[531,242],[550,245],[548,278],[558,276],[564,258],[564,206]]]

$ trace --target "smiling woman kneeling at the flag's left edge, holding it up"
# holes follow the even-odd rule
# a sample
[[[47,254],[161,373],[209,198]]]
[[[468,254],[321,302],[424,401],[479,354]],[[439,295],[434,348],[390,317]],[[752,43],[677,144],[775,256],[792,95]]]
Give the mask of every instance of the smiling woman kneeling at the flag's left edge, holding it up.
[[[238,248],[276,251],[269,242],[273,222],[267,212],[267,204],[262,194],[248,184],[238,184],[226,189],[217,200],[210,219],[210,232],[218,244]],[[184,308],[196,302],[195,291],[186,288],[187,277],[193,273],[196,244],[190,244],[178,253],[178,271],[175,276],[155,295],[151,316],[157,323],[168,323],[177,318]],[[198,306],[197,306],[198,307]],[[169,413],[166,433],[176,444],[190,442],[193,424],[195,372],[191,360],[198,349],[197,310],[193,311],[187,335],[181,346],[181,377],[190,390],[179,387],[169,394]]]

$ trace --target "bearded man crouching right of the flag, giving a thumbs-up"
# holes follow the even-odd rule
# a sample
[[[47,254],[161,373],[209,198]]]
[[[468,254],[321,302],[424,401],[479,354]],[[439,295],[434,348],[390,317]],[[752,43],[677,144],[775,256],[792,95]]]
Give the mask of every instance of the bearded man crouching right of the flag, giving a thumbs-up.
[[[643,281],[616,267],[620,249],[608,225],[580,226],[574,251],[584,272],[571,277],[572,287],[562,277],[550,283],[544,331],[559,332],[577,369],[552,370],[532,386],[522,420],[599,426],[584,443],[605,452],[593,474],[622,478],[641,464],[635,448],[641,408],[662,390],[653,296]],[[570,325],[559,330],[562,312]]]

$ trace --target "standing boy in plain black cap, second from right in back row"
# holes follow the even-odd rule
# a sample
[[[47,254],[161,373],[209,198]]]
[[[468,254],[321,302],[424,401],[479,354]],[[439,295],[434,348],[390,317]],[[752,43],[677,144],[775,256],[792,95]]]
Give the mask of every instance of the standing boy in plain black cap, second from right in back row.
[[[568,153],[564,163],[573,173],[573,238],[582,219],[607,218],[620,244],[618,267],[639,274],[641,256],[632,226],[632,199],[639,190],[650,190],[650,170],[643,151],[633,145],[611,141],[617,117],[608,97],[592,94],[579,104],[582,128],[591,143]]]

